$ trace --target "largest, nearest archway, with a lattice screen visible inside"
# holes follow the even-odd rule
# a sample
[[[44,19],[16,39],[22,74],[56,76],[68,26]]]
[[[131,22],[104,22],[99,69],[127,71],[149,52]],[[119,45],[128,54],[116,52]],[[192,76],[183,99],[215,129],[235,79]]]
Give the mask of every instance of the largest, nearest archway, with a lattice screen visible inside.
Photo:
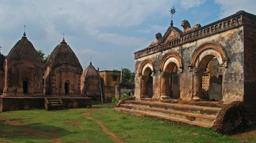
[[[223,70],[228,67],[227,63],[228,57],[220,46],[205,44],[194,51],[191,66],[189,66],[189,70],[193,71],[194,100],[220,101],[222,99]]]

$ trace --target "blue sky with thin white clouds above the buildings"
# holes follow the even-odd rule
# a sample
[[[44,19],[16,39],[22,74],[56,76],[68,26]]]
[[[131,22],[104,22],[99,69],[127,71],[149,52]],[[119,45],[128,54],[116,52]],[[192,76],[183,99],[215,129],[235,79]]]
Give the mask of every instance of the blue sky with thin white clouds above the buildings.
[[[100,71],[134,72],[134,52],[163,35],[171,19],[183,31],[182,20],[203,27],[240,10],[256,15],[255,0],[0,0],[1,53],[25,31],[46,56],[64,37],[84,70],[92,62]]]

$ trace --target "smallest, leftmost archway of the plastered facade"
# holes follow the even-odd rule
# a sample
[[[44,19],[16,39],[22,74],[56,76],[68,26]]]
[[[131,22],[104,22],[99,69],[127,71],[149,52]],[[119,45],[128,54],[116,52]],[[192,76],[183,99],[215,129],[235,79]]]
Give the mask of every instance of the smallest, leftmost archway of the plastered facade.
[[[141,98],[152,98],[153,96],[153,77],[154,65],[150,60],[146,60],[139,68],[141,76]]]

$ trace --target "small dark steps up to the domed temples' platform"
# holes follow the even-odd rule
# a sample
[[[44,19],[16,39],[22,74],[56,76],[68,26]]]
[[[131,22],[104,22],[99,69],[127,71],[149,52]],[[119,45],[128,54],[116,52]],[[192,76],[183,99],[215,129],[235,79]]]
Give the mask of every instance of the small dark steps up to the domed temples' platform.
[[[60,98],[44,98],[44,107],[46,110],[62,110],[63,102]]]

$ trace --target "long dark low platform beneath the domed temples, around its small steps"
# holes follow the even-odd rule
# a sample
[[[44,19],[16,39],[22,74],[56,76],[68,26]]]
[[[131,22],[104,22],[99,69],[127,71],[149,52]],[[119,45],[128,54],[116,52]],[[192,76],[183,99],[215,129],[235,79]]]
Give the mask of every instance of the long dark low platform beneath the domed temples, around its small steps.
[[[12,110],[47,109],[45,98],[60,98],[63,109],[92,107],[92,98],[69,96],[0,96],[0,112]],[[55,109],[55,108],[50,108]],[[56,109],[57,110],[57,109]]]

